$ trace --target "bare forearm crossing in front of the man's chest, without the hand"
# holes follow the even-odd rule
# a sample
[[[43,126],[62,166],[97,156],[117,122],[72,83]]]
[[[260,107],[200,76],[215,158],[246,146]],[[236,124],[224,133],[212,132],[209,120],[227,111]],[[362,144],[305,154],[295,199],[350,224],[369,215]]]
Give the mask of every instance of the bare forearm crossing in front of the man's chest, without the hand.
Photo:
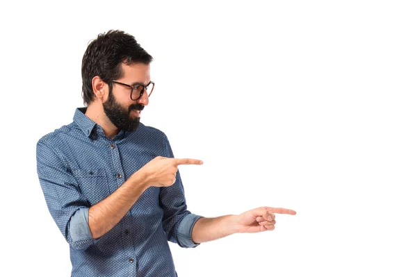
[[[136,174],[113,194],[93,205],[88,211],[88,226],[92,238],[97,239],[111,230],[126,215],[140,195],[147,189],[146,177]]]

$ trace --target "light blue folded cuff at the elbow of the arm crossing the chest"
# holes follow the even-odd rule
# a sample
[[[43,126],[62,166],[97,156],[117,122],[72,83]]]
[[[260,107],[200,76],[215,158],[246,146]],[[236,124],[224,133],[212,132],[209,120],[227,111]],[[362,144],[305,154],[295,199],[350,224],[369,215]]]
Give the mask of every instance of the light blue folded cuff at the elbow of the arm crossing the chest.
[[[70,245],[74,249],[86,249],[95,242],[92,238],[90,227],[88,227],[88,210],[90,208],[81,208],[71,217]]]

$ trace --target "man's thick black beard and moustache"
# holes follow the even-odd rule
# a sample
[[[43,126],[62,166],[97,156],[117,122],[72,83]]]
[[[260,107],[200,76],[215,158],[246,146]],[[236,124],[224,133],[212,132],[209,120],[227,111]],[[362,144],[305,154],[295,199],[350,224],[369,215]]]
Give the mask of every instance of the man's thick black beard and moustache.
[[[111,123],[118,129],[125,131],[135,131],[139,128],[140,117],[131,118],[131,110],[143,110],[145,106],[142,104],[134,104],[129,108],[124,108],[120,103],[117,103],[115,96],[112,93],[113,87],[109,87],[108,99],[103,103],[104,113],[106,113]]]

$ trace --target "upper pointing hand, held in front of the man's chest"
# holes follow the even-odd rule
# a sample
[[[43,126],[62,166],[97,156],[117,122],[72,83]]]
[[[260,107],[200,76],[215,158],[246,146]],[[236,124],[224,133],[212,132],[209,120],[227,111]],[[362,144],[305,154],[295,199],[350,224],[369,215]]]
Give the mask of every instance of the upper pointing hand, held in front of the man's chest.
[[[179,165],[202,165],[202,160],[156,157],[135,174],[143,174],[149,187],[169,187],[175,183]]]

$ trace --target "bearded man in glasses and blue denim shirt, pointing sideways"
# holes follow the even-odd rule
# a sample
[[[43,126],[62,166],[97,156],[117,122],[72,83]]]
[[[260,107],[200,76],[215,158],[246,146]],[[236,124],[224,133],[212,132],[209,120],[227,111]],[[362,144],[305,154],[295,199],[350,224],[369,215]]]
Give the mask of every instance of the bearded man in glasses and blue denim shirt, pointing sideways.
[[[167,241],[192,248],[233,233],[275,228],[261,207],[205,218],[187,210],[179,165],[165,134],[140,122],[154,90],[152,56],[122,31],[90,42],[83,99],[72,124],[42,137],[38,176],[49,211],[70,244],[72,276],[177,276]]]

